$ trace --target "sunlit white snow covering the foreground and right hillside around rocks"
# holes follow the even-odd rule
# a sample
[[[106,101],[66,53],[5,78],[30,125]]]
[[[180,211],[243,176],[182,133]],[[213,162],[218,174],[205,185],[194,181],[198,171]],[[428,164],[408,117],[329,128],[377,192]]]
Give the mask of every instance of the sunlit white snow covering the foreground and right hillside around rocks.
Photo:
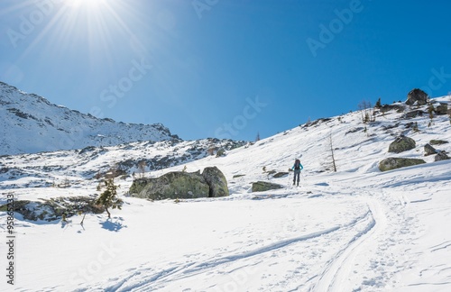
[[[110,220],[87,214],[81,226],[81,216],[62,224],[16,215],[15,285],[3,277],[0,290],[451,291],[451,160],[435,162],[423,150],[432,139],[451,141],[449,116],[435,117],[430,126],[428,114],[400,116],[378,114],[376,122],[364,125],[360,112],[345,114],[228,151],[226,157],[146,174],[216,166],[226,175],[230,196],[152,202],[127,196],[133,181],[127,178],[115,180],[125,204],[112,210]],[[411,122],[419,132],[406,127]],[[388,153],[401,133],[417,147]],[[330,135],[337,172],[323,171]],[[451,152],[451,143],[435,147]],[[388,157],[427,163],[381,172],[378,163]],[[262,170],[288,171],[296,158],[304,166],[299,187],[291,186],[291,173],[272,178]],[[25,159],[9,158],[17,165]],[[48,154],[45,160],[64,164],[73,157]],[[74,169],[69,188],[25,187],[27,178],[4,180],[0,187],[18,199],[98,194],[97,180]],[[257,180],[284,187],[251,193]],[[4,240],[5,222],[1,213]],[[0,251],[5,267],[5,248]]]

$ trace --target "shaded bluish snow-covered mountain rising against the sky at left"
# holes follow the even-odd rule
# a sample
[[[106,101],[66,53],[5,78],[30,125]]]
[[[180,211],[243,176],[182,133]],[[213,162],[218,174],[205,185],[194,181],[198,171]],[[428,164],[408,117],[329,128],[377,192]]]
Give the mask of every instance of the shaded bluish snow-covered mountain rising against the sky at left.
[[[0,82],[0,155],[178,139],[161,123],[98,119]]]

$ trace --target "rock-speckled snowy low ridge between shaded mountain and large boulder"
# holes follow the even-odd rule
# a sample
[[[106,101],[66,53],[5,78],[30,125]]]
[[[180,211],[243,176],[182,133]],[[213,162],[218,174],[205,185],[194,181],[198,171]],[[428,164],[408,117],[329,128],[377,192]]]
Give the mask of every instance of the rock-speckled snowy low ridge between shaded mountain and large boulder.
[[[0,157],[0,189],[49,187],[91,180],[108,171],[122,177],[141,175],[207,157],[212,148],[233,150],[245,141],[139,141],[110,147],[89,146],[74,151],[40,152]],[[213,153],[215,154],[215,153]],[[138,164],[143,163],[143,170]]]

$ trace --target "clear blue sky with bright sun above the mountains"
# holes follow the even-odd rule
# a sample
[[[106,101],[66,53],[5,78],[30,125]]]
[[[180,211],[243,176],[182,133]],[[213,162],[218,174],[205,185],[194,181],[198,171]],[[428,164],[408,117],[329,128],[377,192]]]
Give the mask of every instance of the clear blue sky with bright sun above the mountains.
[[[2,0],[0,80],[185,140],[451,91],[447,0]]]

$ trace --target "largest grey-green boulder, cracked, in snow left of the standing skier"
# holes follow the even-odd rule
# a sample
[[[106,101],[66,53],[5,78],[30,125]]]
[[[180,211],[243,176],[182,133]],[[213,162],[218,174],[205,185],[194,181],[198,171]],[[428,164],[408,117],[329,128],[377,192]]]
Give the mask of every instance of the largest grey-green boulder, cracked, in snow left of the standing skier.
[[[228,196],[227,181],[217,169],[197,172],[174,171],[159,178],[133,180],[130,195],[152,200]]]

